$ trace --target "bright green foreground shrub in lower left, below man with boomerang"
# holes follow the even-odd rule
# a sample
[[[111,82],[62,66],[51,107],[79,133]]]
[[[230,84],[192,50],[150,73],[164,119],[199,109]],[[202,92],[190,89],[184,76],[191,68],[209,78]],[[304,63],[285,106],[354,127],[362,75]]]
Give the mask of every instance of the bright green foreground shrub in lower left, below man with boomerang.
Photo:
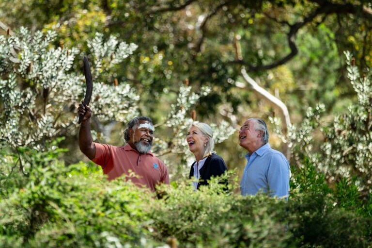
[[[28,183],[1,202],[0,233],[27,247],[139,245],[149,233],[145,210],[154,195],[122,178],[109,182],[95,170],[87,177],[88,170],[58,161],[34,167]]]

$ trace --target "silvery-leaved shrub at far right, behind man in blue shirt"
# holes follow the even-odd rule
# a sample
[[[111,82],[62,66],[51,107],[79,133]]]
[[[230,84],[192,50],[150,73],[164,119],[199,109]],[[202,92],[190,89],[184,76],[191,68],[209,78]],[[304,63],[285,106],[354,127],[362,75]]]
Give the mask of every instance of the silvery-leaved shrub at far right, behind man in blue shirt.
[[[352,54],[345,52],[348,78],[356,92],[357,101],[346,113],[335,115],[332,122],[321,120],[324,104],[309,108],[300,126],[288,132],[294,161],[301,166],[307,157],[331,182],[342,177],[357,177],[359,190],[372,192],[372,85],[371,70],[360,76],[353,65]],[[278,119],[272,122],[280,131]],[[313,134],[323,134],[320,145],[316,145]],[[320,151],[316,152],[319,146]]]

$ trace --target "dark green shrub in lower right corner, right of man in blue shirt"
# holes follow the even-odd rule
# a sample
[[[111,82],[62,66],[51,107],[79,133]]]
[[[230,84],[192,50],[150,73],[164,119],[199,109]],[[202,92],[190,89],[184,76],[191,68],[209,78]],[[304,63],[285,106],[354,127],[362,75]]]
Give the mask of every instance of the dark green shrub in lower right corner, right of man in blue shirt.
[[[305,156],[292,167],[289,231],[299,247],[372,245],[371,200],[361,197],[355,178],[329,185]],[[290,198],[290,199],[291,199]]]

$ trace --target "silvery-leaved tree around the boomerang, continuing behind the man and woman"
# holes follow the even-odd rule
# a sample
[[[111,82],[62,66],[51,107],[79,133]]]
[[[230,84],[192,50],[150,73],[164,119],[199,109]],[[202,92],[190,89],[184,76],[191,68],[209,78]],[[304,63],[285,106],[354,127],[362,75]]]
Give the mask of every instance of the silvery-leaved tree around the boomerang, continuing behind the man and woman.
[[[27,161],[25,148],[55,149],[49,145],[51,141],[76,135],[78,130],[76,106],[82,99],[84,77],[71,70],[78,50],[55,49],[51,46],[55,38],[55,32],[38,31],[32,35],[25,28],[12,36],[0,36],[0,147],[17,154],[16,165],[25,174],[25,167],[32,166]],[[88,42],[88,47],[94,54],[89,57],[93,62],[91,108],[95,113],[96,138],[105,141],[105,127],[115,122],[125,123],[139,114],[139,96],[128,83],[116,80],[114,85],[105,84],[101,71],[108,71],[122,62],[137,45],[120,42],[114,36],[105,41],[98,33]],[[179,91],[177,103],[171,106],[169,115],[156,125],[168,126],[173,132],[159,136],[154,151],[163,155],[180,153],[181,157],[186,157],[183,133],[193,121],[186,113],[210,89],[203,87],[200,93],[194,93],[190,86],[183,85]],[[215,130],[220,135],[217,142],[223,141],[233,130],[226,122],[220,124]],[[185,167],[177,166],[174,166],[175,171]]]

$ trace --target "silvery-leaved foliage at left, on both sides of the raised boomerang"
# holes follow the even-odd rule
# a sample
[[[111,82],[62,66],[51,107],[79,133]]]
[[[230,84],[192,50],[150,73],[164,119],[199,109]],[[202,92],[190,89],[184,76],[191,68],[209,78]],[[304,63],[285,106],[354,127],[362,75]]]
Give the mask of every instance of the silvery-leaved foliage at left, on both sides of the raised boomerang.
[[[82,69],[77,75],[72,66],[79,51],[54,48],[56,37],[53,31],[31,34],[26,28],[14,36],[0,36],[0,147],[43,150],[46,141],[78,130],[76,106],[84,96],[85,77]],[[104,43],[97,34],[90,48],[97,52],[97,78],[100,70],[123,61],[137,46],[115,37]],[[100,97],[94,103],[100,121],[124,121],[137,113],[139,97],[126,83],[93,84],[93,97]]]

